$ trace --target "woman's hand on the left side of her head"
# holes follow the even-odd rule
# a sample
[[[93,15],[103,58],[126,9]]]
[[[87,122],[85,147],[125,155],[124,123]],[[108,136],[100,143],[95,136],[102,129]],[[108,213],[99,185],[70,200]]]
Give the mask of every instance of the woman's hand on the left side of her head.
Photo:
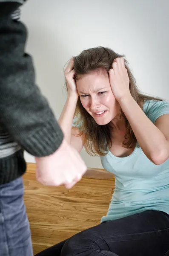
[[[69,60],[69,63],[67,65],[64,73],[65,73],[65,79],[66,79],[69,96],[76,96],[78,98],[79,93],[77,92],[76,82],[74,80],[74,75],[75,75],[74,58],[71,58]]]

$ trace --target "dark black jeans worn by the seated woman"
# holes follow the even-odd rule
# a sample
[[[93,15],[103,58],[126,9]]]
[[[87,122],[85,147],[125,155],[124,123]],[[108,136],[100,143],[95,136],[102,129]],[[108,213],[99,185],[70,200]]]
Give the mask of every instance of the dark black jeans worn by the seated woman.
[[[148,210],[84,230],[36,256],[169,256],[169,215]]]

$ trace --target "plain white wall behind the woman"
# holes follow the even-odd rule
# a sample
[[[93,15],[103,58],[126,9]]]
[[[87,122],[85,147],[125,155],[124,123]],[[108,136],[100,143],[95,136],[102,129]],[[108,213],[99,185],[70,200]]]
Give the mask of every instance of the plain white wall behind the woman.
[[[168,10],[168,0],[29,0],[22,12],[29,29],[26,50],[56,117],[66,100],[63,67],[90,47],[125,54],[140,89],[169,99]],[[88,167],[102,168],[98,157],[81,155]],[[34,157],[26,153],[26,160]]]

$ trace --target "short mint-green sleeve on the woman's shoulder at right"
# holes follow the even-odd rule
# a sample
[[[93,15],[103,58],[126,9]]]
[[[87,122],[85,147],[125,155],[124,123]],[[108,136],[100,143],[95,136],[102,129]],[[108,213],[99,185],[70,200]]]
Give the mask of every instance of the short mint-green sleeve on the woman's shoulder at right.
[[[164,114],[169,114],[169,102],[149,100],[144,103],[143,111],[146,116],[155,124],[156,119]]]

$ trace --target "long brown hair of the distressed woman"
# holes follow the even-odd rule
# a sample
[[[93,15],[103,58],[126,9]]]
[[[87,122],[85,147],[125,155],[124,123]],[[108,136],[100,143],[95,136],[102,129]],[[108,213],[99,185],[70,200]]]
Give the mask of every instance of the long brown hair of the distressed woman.
[[[112,49],[105,47],[95,47],[83,50],[80,55],[74,57],[74,71],[76,73],[74,76],[75,81],[77,81],[80,76],[91,73],[91,71],[98,69],[105,69],[108,71],[112,68],[113,60],[118,57],[124,58],[124,55],[117,54]],[[144,100],[162,100],[158,97],[147,96],[140,92],[125,58],[124,61],[130,81],[130,93],[140,108],[143,107]],[[112,147],[110,123],[106,125],[98,125],[93,117],[85,110],[85,108],[83,108],[80,98],[77,101],[74,117],[77,117],[76,125],[80,124],[80,134],[77,136],[83,135],[84,146],[87,153],[92,156],[106,155],[109,148]],[[137,144],[137,139],[122,110],[120,111],[120,118],[124,118],[126,123],[126,134],[125,140],[123,141],[123,147],[133,148]]]

